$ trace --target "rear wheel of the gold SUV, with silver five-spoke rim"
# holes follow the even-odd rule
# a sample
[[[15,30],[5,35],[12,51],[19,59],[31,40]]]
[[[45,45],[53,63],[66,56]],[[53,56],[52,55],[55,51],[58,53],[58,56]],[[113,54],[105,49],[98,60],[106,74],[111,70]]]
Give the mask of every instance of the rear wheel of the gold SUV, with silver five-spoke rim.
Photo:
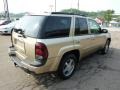
[[[74,54],[63,56],[58,68],[58,76],[63,80],[70,78],[75,72],[76,61],[77,58]]]

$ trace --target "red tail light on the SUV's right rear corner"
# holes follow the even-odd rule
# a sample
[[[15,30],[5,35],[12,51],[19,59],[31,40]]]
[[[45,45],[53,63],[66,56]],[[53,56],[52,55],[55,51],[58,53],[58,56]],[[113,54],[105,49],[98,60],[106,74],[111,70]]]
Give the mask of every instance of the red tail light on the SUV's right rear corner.
[[[40,66],[45,64],[48,58],[48,50],[45,44],[36,43],[35,45],[35,66]]]

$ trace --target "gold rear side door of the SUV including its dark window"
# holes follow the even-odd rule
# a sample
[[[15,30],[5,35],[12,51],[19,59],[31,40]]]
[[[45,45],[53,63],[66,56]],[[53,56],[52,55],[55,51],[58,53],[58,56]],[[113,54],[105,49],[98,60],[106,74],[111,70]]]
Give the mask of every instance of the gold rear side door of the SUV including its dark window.
[[[74,44],[75,47],[79,48],[82,56],[86,56],[91,52],[91,35],[89,34],[86,18],[75,18]]]

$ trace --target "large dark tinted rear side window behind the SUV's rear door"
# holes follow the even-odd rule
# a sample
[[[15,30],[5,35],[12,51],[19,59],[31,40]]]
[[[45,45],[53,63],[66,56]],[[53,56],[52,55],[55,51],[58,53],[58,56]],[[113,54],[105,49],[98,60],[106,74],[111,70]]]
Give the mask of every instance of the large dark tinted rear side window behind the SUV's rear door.
[[[71,17],[49,16],[45,21],[44,38],[68,37]]]

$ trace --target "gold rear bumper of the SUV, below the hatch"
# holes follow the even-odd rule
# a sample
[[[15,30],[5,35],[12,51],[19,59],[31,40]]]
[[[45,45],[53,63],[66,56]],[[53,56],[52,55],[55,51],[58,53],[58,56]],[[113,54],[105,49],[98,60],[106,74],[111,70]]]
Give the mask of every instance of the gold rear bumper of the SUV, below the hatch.
[[[40,67],[32,66],[32,65],[24,62],[23,60],[19,59],[16,56],[15,49],[13,47],[9,48],[8,54],[9,54],[10,60],[13,61],[13,63],[17,64],[20,68],[26,69],[35,74],[51,72],[50,67],[52,64],[50,64],[49,62]]]

